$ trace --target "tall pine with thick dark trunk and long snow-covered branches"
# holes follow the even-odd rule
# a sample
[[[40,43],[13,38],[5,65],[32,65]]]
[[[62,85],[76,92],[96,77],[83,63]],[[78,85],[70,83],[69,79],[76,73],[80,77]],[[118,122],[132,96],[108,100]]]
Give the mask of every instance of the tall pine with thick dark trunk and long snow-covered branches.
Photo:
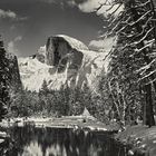
[[[136,94],[135,91],[137,91],[136,95],[139,95],[138,92],[140,92],[140,95],[145,97],[145,99],[142,100],[144,124],[149,126],[155,125],[152,99],[153,87],[156,92],[156,16],[155,2],[153,2],[154,1],[148,0],[114,0],[110,9],[113,9],[115,4],[118,4],[119,7],[124,6],[124,10],[118,17],[114,17],[117,9],[113,11],[114,13],[109,16],[111,22],[108,26],[109,30],[107,31],[108,36],[114,33],[118,37],[116,50],[110,53],[113,64],[110,65],[111,84],[109,82],[109,88],[111,90],[111,96],[118,99],[116,101],[120,103],[123,107],[125,107],[126,104],[127,108],[125,107],[125,109],[123,109],[126,111],[129,109],[128,101],[133,100],[133,97],[131,99],[129,96],[127,97],[128,92],[130,94],[131,91],[131,95],[134,96]],[[136,87],[133,86],[131,79],[128,79],[128,74],[130,77],[133,76],[134,79],[136,75],[134,81]],[[124,84],[126,85],[126,90]],[[128,89],[129,87],[133,90]],[[137,97],[135,98],[137,100]]]

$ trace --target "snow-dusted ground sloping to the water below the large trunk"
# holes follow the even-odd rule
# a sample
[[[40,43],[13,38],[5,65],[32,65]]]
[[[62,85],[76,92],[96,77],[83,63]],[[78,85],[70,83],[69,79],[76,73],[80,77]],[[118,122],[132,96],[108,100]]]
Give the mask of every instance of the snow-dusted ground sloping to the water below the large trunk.
[[[156,126],[129,126],[118,134],[125,145],[130,145],[129,154],[156,156]]]

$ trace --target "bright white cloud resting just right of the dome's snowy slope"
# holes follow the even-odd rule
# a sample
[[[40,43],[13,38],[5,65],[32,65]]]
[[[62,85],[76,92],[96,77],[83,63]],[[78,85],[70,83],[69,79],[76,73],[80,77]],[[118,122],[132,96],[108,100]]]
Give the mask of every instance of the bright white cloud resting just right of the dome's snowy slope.
[[[103,40],[91,40],[89,42],[89,48],[99,51],[110,51],[115,45],[115,37],[109,37]]]

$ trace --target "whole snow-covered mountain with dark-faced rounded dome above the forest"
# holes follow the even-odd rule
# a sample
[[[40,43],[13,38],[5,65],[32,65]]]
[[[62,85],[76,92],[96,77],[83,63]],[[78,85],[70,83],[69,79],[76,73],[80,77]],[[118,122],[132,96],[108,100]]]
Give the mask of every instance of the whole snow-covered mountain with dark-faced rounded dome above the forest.
[[[30,90],[39,90],[43,80],[51,89],[61,85],[70,87],[87,84],[95,88],[105,65],[106,53],[90,51],[81,41],[68,36],[49,37],[46,46],[28,58],[19,58],[22,84]]]

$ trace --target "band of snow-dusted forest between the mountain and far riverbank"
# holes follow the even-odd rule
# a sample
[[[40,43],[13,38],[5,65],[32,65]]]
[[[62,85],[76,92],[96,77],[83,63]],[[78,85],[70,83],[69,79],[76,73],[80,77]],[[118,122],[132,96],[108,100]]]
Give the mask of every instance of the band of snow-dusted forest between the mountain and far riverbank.
[[[81,115],[85,108],[90,115],[107,120],[104,104],[98,95],[94,96],[87,85],[70,88],[62,85],[59,90],[48,89],[47,81],[37,91],[27,89],[10,90],[8,117],[61,117]]]

